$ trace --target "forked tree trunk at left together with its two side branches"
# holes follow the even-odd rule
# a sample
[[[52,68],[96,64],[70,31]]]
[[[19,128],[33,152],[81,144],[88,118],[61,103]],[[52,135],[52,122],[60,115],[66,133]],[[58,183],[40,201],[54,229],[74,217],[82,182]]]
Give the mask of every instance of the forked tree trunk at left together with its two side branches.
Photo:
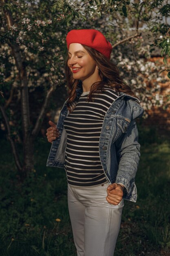
[[[2,2],[2,8],[6,3],[8,3],[8,0],[1,0]],[[13,18],[11,15],[11,12],[8,9],[8,6],[6,5],[3,8],[6,22],[8,29],[11,29],[11,26],[13,26]],[[38,135],[38,132],[40,130],[40,126],[42,124],[42,121],[44,119],[45,111],[49,103],[49,99],[51,97],[51,94],[54,90],[54,88],[51,86],[51,88],[47,91],[44,103],[42,104],[42,108],[40,110],[39,117],[36,121],[35,127],[31,127],[30,122],[30,112],[29,112],[29,90],[28,90],[28,77],[26,74],[26,66],[24,65],[24,57],[21,54],[20,46],[15,43],[14,41],[8,41],[9,46],[12,49],[13,56],[15,58],[15,63],[18,69],[18,76],[20,79],[20,91],[21,91],[21,118],[22,118],[22,137],[23,137],[23,164],[21,166],[19,161],[19,156],[17,155],[16,145],[15,141],[13,141],[10,137],[10,127],[9,122],[6,122],[7,129],[9,130],[9,140],[11,141],[11,145],[13,148],[13,154],[15,157],[15,163],[17,164],[17,168],[20,171],[21,179],[23,180],[27,173],[30,171],[33,171],[34,168],[34,159],[33,159],[33,151],[34,151],[34,141],[35,138]],[[23,58],[22,58],[23,57]]]

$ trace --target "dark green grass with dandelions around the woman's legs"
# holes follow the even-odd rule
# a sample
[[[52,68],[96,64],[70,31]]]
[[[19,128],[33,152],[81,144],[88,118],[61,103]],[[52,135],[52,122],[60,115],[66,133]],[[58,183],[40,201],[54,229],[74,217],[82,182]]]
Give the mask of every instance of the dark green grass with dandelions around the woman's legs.
[[[35,171],[19,184],[9,143],[1,143],[0,256],[76,256],[65,171],[46,167],[50,146],[37,140]],[[136,185],[137,202],[124,201],[114,256],[169,256],[168,142],[141,145]]]

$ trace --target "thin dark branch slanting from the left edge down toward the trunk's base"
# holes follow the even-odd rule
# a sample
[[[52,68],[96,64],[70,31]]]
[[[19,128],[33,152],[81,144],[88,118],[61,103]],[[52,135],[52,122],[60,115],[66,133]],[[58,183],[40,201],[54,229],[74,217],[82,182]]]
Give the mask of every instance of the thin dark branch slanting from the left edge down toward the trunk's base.
[[[20,163],[20,158],[19,158],[19,155],[18,155],[18,152],[17,152],[17,149],[16,149],[15,141],[13,141],[13,139],[11,138],[11,130],[10,130],[10,126],[9,126],[9,121],[8,121],[7,115],[5,113],[4,107],[2,105],[0,105],[0,110],[2,112],[2,116],[4,117],[4,121],[5,121],[5,124],[6,124],[6,127],[7,127],[7,132],[8,132],[7,137],[9,139],[10,143],[11,143],[15,164],[17,166],[18,171],[21,173],[22,172],[22,166],[21,166],[21,163]]]

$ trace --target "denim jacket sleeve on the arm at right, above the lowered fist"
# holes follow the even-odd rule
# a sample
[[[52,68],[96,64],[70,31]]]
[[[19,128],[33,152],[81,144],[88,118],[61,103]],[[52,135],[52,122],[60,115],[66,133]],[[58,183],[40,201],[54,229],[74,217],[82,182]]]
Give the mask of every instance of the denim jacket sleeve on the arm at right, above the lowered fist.
[[[135,175],[140,157],[140,144],[138,142],[138,130],[135,119],[131,120],[127,132],[123,133],[115,141],[115,146],[119,160],[115,182],[123,184],[126,188],[124,193],[129,195],[135,185]]]

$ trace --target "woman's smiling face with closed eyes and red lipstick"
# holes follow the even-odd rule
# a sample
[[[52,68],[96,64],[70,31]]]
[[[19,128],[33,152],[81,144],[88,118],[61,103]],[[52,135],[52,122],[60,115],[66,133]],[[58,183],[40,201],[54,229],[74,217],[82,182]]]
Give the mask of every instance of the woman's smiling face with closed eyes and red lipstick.
[[[95,61],[79,43],[71,43],[68,49],[68,67],[74,79],[84,81],[94,73],[98,74]]]

